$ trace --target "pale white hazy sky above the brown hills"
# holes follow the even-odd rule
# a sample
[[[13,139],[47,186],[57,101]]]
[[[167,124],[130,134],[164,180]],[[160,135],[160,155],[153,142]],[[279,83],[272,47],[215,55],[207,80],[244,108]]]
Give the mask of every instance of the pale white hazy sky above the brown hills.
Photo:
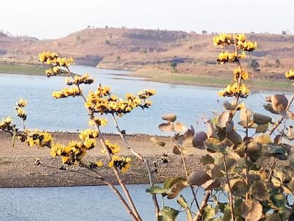
[[[94,27],[294,32],[294,0],[0,0],[0,29],[53,39]]]

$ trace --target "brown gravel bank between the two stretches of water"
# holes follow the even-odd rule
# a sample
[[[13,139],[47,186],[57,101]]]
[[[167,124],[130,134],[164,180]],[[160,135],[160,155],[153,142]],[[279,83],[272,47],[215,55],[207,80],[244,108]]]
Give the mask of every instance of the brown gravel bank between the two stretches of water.
[[[78,133],[52,133],[55,142],[68,143],[71,140],[78,140]],[[120,154],[132,158],[130,170],[122,174],[123,181],[126,184],[148,184],[148,174],[144,163],[139,161],[125,147],[118,135],[105,135],[106,139],[120,145]],[[169,163],[158,166],[158,173],[155,173],[155,182],[163,182],[169,176],[185,176],[181,157],[172,153],[172,142],[170,138],[158,137],[167,142],[165,147],[158,147],[151,142],[149,135],[127,135],[127,140],[134,149],[145,156],[151,163],[160,163],[163,153],[169,155]],[[98,168],[107,180],[118,184],[114,178],[113,170],[107,166],[108,160],[102,154],[99,143],[97,147],[87,152],[85,161],[104,162],[104,167]],[[62,162],[57,158],[52,158],[48,148],[29,147],[18,140],[15,141],[15,147],[12,147],[12,138],[6,133],[0,133],[0,187],[71,187],[85,185],[104,185],[104,182],[94,178],[89,178],[79,173],[73,173],[66,170],[60,170]],[[189,170],[195,170],[201,167],[200,156],[204,154],[202,150],[190,147],[187,163]],[[38,159],[45,166],[36,166]],[[47,166],[47,167],[46,167]],[[78,172],[88,173],[84,168],[72,166],[71,169]]]

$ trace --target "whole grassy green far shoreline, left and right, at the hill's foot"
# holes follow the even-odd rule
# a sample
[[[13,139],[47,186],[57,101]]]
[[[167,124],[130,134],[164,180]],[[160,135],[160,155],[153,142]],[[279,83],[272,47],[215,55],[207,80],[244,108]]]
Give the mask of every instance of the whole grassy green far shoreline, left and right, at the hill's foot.
[[[37,64],[6,64],[0,62],[0,74],[29,74],[29,75],[45,75],[45,65]],[[99,67],[104,68],[104,67]],[[113,67],[107,67],[109,69]],[[120,69],[125,70],[125,69]],[[121,76],[122,74],[120,74]],[[60,76],[65,76],[62,74]],[[231,79],[221,77],[202,76],[194,74],[180,74],[161,69],[144,68],[130,71],[125,76],[135,76],[144,81],[154,81],[160,83],[183,84],[190,86],[209,86],[217,88],[225,88]],[[292,92],[294,91],[293,85],[290,81],[281,81],[276,79],[250,79],[247,83],[251,91],[281,91]]]

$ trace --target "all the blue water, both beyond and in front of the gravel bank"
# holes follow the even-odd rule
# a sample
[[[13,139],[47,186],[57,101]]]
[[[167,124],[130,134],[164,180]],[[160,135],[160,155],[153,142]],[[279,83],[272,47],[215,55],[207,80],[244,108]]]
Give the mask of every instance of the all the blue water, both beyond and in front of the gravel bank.
[[[127,133],[146,133],[161,135],[158,124],[161,116],[167,112],[176,112],[179,121],[193,124],[196,130],[203,130],[202,115],[211,117],[213,112],[220,112],[223,98],[218,98],[219,88],[172,85],[143,81],[125,76],[127,72],[97,69],[86,66],[73,66],[73,72],[90,73],[95,83],[111,86],[113,92],[124,95],[137,93],[143,89],[155,89],[153,106],[142,111],[137,109],[132,114],[119,119],[121,128]],[[24,98],[29,102],[27,126],[41,130],[76,131],[87,128],[87,112],[80,98],[56,100],[52,91],[64,87],[64,77],[29,76],[21,74],[0,74],[0,118],[11,116],[15,112],[15,102]],[[87,88],[83,88],[87,92]],[[262,107],[269,92],[253,93],[246,101],[246,106],[256,112],[265,113]],[[290,95],[290,93],[286,93]],[[219,102],[217,102],[219,101]],[[20,126],[20,120],[16,119]],[[110,121],[104,128],[114,132]],[[151,196],[146,194],[146,185],[130,185],[130,193],[138,206],[143,220],[155,220]],[[183,191],[191,201],[189,189]],[[203,197],[200,189],[198,196]],[[160,200],[160,204],[162,201]],[[166,201],[165,205],[179,208],[175,201]],[[130,220],[116,195],[108,187],[55,187],[55,188],[16,188],[0,189],[0,220]],[[185,213],[180,213],[179,220],[186,220]]]

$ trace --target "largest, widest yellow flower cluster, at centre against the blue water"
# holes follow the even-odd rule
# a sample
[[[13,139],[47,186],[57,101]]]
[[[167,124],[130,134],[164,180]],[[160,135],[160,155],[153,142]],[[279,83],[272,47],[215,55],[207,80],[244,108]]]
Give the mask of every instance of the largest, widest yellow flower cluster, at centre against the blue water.
[[[131,112],[136,107],[148,108],[151,105],[151,101],[146,100],[149,96],[153,95],[155,91],[144,91],[140,95],[133,95],[127,93],[125,100],[118,99],[117,96],[111,95],[111,89],[109,87],[99,86],[96,91],[90,91],[87,96],[87,102],[85,107],[92,109],[99,114],[126,114]]]

